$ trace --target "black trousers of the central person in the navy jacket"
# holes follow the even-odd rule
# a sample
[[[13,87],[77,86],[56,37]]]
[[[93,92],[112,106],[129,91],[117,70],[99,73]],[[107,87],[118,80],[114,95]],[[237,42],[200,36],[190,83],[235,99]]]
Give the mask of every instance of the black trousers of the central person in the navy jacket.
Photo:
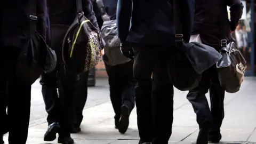
[[[173,85],[167,74],[171,47],[143,45],[133,51],[140,140],[167,144],[173,122]]]

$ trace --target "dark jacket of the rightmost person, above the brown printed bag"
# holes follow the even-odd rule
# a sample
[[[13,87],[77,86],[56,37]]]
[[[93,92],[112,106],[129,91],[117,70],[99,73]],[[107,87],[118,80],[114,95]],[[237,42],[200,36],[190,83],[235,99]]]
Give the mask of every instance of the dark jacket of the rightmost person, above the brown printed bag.
[[[227,6],[230,6],[230,20]],[[204,44],[220,47],[221,39],[231,41],[230,30],[234,31],[242,17],[243,4],[240,0],[195,1],[195,18],[192,35],[200,34]]]

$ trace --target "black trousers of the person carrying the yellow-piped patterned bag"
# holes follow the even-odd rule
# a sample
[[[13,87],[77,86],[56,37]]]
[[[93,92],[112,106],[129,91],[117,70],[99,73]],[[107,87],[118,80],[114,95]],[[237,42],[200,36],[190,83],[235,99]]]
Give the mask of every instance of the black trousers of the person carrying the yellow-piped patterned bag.
[[[58,73],[57,73],[58,71]],[[75,89],[77,75],[71,75],[62,67],[57,67],[52,73],[42,74],[42,94],[48,113],[47,122],[59,122],[60,135],[68,137],[73,130],[75,118]],[[59,89],[59,96],[57,93]]]

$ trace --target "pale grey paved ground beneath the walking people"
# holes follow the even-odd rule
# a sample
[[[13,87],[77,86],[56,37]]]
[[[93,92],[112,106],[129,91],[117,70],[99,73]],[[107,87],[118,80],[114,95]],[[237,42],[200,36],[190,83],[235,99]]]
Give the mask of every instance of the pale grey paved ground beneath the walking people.
[[[256,143],[256,77],[246,77],[241,90],[226,93],[225,119],[221,127],[221,143]],[[169,143],[194,143],[198,134],[196,115],[186,99],[187,92],[174,90],[173,133]],[[209,100],[209,95],[207,94]],[[125,134],[114,128],[114,111],[109,99],[107,79],[97,79],[89,87],[88,100],[83,111],[82,132],[72,134],[76,143],[138,144],[137,115],[134,109],[130,126]],[[33,85],[31,118],[27,144],[49,143],[43,141],[47,129],[46,113],[38,82]],[[7,142],[7,134],[4,136]],[[57,143],[53,141],[50,143]]]

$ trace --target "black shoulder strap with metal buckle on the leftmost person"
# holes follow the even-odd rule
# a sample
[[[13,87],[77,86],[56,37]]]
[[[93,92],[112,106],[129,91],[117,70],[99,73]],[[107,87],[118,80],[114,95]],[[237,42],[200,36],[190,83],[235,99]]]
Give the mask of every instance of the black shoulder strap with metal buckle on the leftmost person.
[[[37,22],[37,16],[36,16],[36,0],[30,0],[29,1],[29,25],[30,25],[30,37],[34,35],[36,31],[36,22]]]

